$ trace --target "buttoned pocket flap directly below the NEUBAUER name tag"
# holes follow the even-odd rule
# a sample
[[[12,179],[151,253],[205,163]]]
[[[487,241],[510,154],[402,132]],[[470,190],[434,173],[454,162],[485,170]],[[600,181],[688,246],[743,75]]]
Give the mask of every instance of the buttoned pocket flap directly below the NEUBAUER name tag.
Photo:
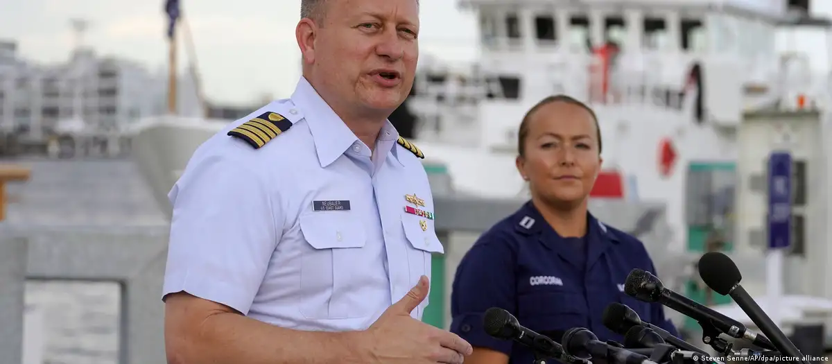
[[[300,216],[300,231],[313,248],[361,248],[364,225],[350,212],[314,212]]]

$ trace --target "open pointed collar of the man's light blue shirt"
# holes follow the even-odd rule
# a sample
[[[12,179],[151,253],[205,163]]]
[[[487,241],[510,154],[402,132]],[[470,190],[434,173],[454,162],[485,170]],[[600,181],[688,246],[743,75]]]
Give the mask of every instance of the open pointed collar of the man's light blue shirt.
[[[332,164],[351,146],[360,142],[358,136],[349,130],[344,121],[335,114],[332,107],[321,98],[318,91],[315,91],[304,76],[300,77],[291,99],[295,106],[298,106],[304,113],[305,121],[312,132],[321,167]],[[385,158],[388,152],[392,152],[394,159],[401,164],[398,149],[395,148],[398,139],[399,131],[390,121],[386,121],[376,140],[376,152],[384,153]]]

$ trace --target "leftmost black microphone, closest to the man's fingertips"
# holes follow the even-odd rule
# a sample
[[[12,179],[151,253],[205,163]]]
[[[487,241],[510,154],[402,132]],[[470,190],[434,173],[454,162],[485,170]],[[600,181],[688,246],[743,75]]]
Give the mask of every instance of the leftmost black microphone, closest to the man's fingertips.
[[[491,307],[485,311],[483,328],[488,335],[503,340],[513,340],[532,348],[535,354],[552,357],[561,362],[571,364],[587,364],[586,361],[572,357],[563,350],[560,344],[551,338],[522,327],[517,317],[499,307]]]

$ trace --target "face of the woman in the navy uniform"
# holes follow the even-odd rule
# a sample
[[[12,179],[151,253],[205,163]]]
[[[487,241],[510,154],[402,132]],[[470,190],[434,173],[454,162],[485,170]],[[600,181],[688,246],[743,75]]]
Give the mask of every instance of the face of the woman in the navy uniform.
[[[527,128],[517,167],[532,196],[556,204],[582,203],[602,163],[592,115],[581,106],[556,101],[534,112]]]

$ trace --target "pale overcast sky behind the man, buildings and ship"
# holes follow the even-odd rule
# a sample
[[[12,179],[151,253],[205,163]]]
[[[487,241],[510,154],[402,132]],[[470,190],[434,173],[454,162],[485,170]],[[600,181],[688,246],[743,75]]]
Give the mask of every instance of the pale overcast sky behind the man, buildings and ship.
[[[23,58],[59,63],[67,60],[75,44],[70,19],[83,18],[89,22],[83,42],[99,55],[139,61],[151,71],[163,71],[167,64],[163,3],[0,0],[0,39],[17,41]],[[295,42],[300,0],[181,0],[181,4],[210,101],[250,105],[264,97],[290,96],[300,76]],[[815,0],[812,6],[814,13],[832,17],[832,1]],[[458,0],[421,0],[421,22],[422,57],[429,54],[448,61],[478,57],[475,18],[458,6]],[[181,27],[178,33],[184,40]],[[790,47],[809,53],[815,68],[828,71],[825,34],[803,32],[789,39]],[[184,67],[189,61],[185,42],[180,42],[179,54],[179,66]]]

